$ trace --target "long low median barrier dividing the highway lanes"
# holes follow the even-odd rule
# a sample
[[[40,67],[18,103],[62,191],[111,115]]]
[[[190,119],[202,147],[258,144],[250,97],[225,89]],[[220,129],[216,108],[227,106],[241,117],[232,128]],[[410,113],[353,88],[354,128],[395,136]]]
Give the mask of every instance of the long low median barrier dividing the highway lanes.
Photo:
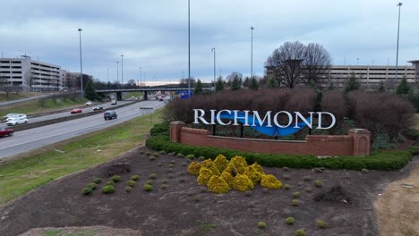
[[[140,100],[134,100],[132,103],[126,103],[124,105],[117,105],[117,106],[111,106],[102,110],[98,110],[98,111],[94,111],[94,112],[88,112],[88,113],[82,113],[82,114],[73,114],[71,116],[65,116],[65,117],[60,117],[60,118],[56,118],[56,119],[51,119],[51,120],[47,120],[47,121],[42,121],[42,122],[29,122],[29,123],[25,123],[25,124],[21,124],[18,126],[13,126],[13,131],[24,131],[24,130],[29,130],[29,129],[33,129],[33,128],[38,128],[40,126],[44,126],[44,125],[48,125],[48,124],[53,124],[53,123],[57,123],[57,122],[68,122],[68,121],[72,121],[75,119],[79,119],[79,118],[83,118],[83,117],[87,117],[90,115],[94,115],[94,114],[100,114],[103,112],[106,112],[108,110],[115,110],[115,108],[120,108],[120,107],[124,107],[127,105],[133,105],[134,103],[140,102]]]

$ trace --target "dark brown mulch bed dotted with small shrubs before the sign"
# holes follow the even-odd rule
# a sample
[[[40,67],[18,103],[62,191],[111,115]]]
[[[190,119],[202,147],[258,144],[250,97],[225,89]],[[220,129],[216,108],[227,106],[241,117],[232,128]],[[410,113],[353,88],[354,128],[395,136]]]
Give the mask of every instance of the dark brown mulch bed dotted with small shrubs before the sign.
[[[108,172],[116,162],[128,163],[130,172],[120,174],[122,181],[116,183],[115,193],[106,195],[95,190],[90,196],[81,196],[81,190],[96,177],[103,180],[100,189],[110,179]],[[34,228],[102,225],[153,236],[294,235],[301,228],[307,235],[375,236],[379,232],[372,201],[389,181],[406,176],[413,165],[399,172],[368,173],[265,167],[265,173],[277,176],[290,190],[256,186],[247,193],[230,190],[213,194],[187,173],[189,162],[169,155],[150,160],[139,149],[86,172],[52,181],[0,209],[0,235],[19,235]],[[125,182],[134,174],[141,178],[126,193]],[[154,189],[147,192],[142,186],[150,180],[150,174],[157,178],[152,180]],[[321,188],[315,187],[315,180],[323,182]],[[340,190],[333,190],[335,186]],[[291,205],[295,191],[301,193],[298,206]],[[350,202],[314,200],[321,194],[328,196],[328,192],[334,194],[332,199]],[[286,217],[294,217],[295,223],[287,225]],[[326,229],[318,229],[317,220],[327,223]],[[258,229],[259,222],[265,222],[266,228]]]

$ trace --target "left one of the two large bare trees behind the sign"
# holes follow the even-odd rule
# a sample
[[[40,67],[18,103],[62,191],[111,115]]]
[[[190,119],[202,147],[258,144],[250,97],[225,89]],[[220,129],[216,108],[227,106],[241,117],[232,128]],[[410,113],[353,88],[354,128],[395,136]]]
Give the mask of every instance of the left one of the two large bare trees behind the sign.
[[[273,70],[273,78],[278,80],[279,85],[294,88],[303,81],[301,67],[304,55],[304,44],[286,42],[273,51],[265,65]]]

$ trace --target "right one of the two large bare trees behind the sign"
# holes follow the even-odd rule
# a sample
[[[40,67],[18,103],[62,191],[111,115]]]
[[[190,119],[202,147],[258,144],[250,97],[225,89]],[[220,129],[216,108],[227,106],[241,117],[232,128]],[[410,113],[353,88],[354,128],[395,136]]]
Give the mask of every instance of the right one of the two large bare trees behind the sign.
[[[321,74],[330,67],[328,50],[319,44],[308,44],[304,51],[304,78],[309,86],[319,86]]]

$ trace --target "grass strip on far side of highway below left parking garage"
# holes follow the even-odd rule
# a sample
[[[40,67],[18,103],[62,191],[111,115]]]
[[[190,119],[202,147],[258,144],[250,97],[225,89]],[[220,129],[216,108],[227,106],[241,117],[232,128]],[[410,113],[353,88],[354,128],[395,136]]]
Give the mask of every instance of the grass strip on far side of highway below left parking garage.
[[[43,102],[41,102],[43,101]],[[76,98],[74,101],[70,98],[48,98],[42,100],[31,100],[21,104],[13,106],[2,106],[0,107],[0,116],[10,113],[20,113],[20,114],[36,114],[44,113],[48,111],[54,111],[57,109],[70,108],[76,105],[84,105],[85,101],[82,101]]]

